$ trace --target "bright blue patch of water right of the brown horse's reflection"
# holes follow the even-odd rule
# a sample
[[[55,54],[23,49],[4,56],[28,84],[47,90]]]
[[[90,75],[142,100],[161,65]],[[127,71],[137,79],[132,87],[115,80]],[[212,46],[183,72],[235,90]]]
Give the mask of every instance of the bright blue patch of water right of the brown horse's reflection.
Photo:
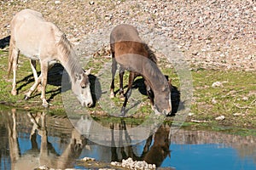
[[[241,158],[236,149],[224,144],[171,144],[170,149],[172,156],[166,158],[163,167],[175,167],[180,170],[256,169],[256,162],[253,162],[252,157]]]

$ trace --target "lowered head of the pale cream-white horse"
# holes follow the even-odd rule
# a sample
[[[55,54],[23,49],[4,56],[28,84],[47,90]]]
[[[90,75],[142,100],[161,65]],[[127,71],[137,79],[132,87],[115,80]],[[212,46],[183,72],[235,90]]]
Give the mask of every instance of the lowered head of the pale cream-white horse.
[[[90,75],[90,70],[83,71],[81,74],[76,73],[75,81],[72,82],[72,91],[82,106],[90,107],[93,105],[93,100],[88,75]]]

